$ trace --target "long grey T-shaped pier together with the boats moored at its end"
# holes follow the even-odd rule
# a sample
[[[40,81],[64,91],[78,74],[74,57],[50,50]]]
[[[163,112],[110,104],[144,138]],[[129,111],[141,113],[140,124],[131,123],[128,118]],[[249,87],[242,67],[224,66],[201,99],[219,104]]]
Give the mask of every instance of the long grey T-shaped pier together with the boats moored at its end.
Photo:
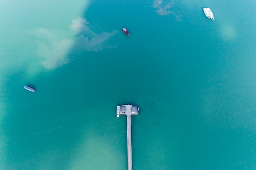
[[[127,118],[127,161],[128,170],[132,170],[132,127],[131,116],[138,115],[138,106],[122,105],[117,106],[117,118],[119,115],[126,115]]]

